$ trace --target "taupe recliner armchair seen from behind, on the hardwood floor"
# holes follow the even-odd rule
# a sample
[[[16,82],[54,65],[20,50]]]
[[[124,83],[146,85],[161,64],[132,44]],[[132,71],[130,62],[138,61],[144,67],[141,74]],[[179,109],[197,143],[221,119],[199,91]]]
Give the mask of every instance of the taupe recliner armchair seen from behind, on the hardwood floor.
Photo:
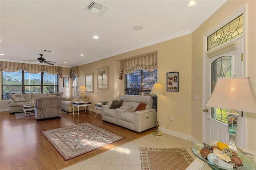
[[[61,96],[42,96],[36,98],[36,119],[53,118],[61,116]]]

